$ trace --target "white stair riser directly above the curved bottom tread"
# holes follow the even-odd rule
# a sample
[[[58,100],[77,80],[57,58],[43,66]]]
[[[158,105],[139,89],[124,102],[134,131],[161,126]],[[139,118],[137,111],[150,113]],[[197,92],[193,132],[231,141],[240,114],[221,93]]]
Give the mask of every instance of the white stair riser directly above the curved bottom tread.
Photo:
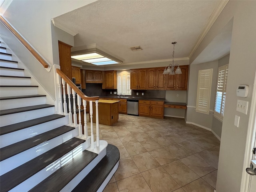
[[[92,160],[88,166],[86,166],[80,173],[78,173],[60,192],[72,191],[84,178],[88,173],[106,156],[106,148],[98,154],[98,156]]]

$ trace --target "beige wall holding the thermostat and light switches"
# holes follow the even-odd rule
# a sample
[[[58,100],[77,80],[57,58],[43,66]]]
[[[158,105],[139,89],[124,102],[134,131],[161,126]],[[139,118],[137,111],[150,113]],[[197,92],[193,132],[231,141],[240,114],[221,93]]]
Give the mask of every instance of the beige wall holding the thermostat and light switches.
[[[254,75],[256,71],[256,1],[229,1],[216,22],[212,25],[196,52],[190,58],[192,62],[222,28],[233,18],[232,43],[228,71],[228,84],[225,104],[225,115],[222,125],[220,156],[216,192],[240,191],[246,134],[250,114],[236,111],[236,96],[239,84],[250,87],[247,98],[248,111],[252,100]],[[242,70],[245,68],[246,70]],[[235,115],[240,116],[239,128],[234,126]],[[248,162],[249,165],[249,162]]]

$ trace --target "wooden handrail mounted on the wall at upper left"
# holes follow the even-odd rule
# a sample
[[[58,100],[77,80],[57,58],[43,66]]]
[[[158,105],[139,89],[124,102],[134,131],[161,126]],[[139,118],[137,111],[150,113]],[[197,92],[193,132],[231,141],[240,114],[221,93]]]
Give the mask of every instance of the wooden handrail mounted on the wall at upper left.
[[[29,52],[42,64],[44,68],[48,68],[48,63],[22,38],[20,34],[4,19],[2,15],[0,15],[0,20],[3,22],[3,24],[18,38],[18,40],[29,50]]]

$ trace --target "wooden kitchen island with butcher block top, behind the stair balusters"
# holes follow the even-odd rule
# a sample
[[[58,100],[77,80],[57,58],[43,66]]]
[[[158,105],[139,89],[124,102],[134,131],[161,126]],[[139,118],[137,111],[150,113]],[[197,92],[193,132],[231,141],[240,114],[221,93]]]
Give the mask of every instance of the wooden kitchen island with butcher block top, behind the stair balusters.
[[[118,102],[116,100],[99,100],[99,124],[112,126],[118,122]],[[93,102],[92,108],[93,111],[96,110],[95,102]],[[92,117],[92,122],[96,122],[95,116]]]

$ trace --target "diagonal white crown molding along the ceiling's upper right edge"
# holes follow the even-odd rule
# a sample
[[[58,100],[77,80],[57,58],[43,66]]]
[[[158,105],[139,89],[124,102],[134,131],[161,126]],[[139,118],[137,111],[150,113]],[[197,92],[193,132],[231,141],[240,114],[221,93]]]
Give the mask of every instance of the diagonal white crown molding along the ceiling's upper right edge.
[[[204,37],[206,36],[206,34],[208,33],[208,31],[210,30],[210,28],[212,27],[212,25],[214,24],[214,22],[216,21],[216,19],[218,18],[218,16],[220,15],[220,13],[222,12],[222,10],[224,9],[224,7],[226,6],[226,4],[228,3],[229,0],[220,0],[218,6],[214,9],[214,11],[212,12],[212,15],[209,18],[208,23],[206,24],[206,26],[204,27],[204,29],[202,30],[200,36],[197,39],[197,42],[194,46],[194,48],[192,49],[192,51],[189,54],[189,58],[191,58],[191,56],[194,54],[194,52],[196,51],[196,49],[198,48],[198,46],[200,45],[200,43],[202,42],[202,40],[204,39]]]

